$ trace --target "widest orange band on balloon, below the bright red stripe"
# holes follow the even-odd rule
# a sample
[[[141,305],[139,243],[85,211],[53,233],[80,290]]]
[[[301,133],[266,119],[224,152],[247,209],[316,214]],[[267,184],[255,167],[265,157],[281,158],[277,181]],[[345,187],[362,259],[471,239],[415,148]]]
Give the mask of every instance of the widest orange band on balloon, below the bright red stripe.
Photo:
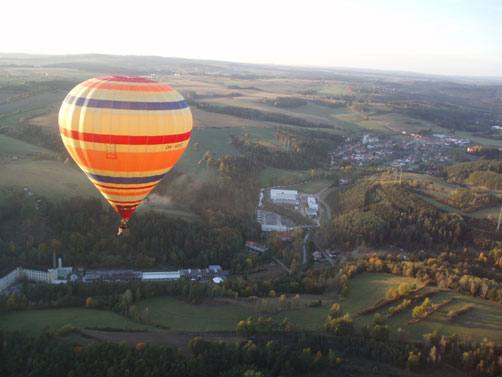
[[[73,147],[72,157],[79,166],[91,170],[120,172],[148,172],[172,167],[179,160],[185,148],[166,152],[126,153],[117,152],[110,158],[105,151],[94,151]]]

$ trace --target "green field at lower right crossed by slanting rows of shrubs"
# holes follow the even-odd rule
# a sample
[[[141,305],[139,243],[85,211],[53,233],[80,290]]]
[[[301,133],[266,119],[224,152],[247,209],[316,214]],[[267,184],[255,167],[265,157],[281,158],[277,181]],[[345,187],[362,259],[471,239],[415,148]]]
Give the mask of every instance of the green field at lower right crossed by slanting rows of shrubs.
[[[402,283],[416,282],[415,279],[382,273],[365,273],[358,275],[349,281],[349,296],[341,301],[342,309],[355,316],[358,311],[370,307],[385,297],[385,292],[390,287]],[[430,317],[416,324],[408,325],[411,317],[409,308],[388,321],[391,330],[402,328],[405,333],[414,340],[422,340],[423,334],[437,330],[440,334],[458,334],[464,340],[481,341],[488,338],[497,343],[502,343],[502,306],[488,300],[462,295],[454,291],[442,292],[431,297],[433,303],[439,303],[452,298],[453,301],[433,313]],[[446,319],[446,313],[452,308],[458,308],[466,303],[475,305],[474,309],[461,315],[450,322]],[[386,314],[387,307],[379,313]],[[357,317],[356,324],[369,324],[373,315]]]

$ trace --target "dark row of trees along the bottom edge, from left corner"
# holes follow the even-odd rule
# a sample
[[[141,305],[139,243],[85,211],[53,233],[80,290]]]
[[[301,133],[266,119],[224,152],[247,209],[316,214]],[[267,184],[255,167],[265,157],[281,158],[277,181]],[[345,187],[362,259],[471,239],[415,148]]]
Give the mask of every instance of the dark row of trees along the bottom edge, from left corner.
[[[189,354],[175,349],[138,343],[69,344],[40,336],[0,333],[0,375],[24,376],[298,376],[337,364],[334,354],[323,354],[303,344],[270,341],[257,345],[211,343],[194,338]]]

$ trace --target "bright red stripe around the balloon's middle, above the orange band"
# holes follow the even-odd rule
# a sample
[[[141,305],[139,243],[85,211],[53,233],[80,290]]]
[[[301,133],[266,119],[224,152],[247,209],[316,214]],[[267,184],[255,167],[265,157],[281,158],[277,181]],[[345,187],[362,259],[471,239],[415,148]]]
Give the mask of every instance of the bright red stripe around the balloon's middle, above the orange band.
[[[158,145],[179,143],[190,139],[192,131],[173,135],[129,136],[129,135],[103,135],[88,132],[78,132],[61,128],[61,133],[73,140],[88,141],[90,143],[125,144],[125,145]]]

